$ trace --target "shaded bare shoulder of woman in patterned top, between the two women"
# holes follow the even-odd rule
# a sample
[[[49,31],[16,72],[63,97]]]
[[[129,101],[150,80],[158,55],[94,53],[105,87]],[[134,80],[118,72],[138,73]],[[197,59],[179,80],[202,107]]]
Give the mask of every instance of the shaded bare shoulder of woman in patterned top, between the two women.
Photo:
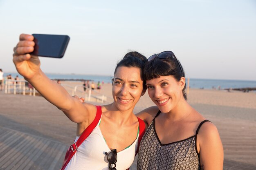
[[[141,110],[139,113],[136,114],[136,116],[142,119],[146,123],[146,125],[149,126],[158,111],[159,109],[157,108],[157,106],[151,106],[149,108]]]

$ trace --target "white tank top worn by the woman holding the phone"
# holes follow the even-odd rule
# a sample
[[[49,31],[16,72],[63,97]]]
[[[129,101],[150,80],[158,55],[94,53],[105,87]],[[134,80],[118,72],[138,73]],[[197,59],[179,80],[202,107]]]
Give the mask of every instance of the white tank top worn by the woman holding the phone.
[[[99,123],[76,150],[65,170],[108,170],[108,160],[105,152],[110,152],[111,150],[101,133]],[[126,170],[132,165],[137,150],[138,136],[130,147],[117,152],[117,170]],[[79,137],[77,136],[75,142],[78,139]]]

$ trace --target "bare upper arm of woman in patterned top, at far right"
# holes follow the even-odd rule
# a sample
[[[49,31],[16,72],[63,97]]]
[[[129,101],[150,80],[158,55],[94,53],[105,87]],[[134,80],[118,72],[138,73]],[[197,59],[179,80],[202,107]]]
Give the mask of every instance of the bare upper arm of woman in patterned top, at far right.
[[[216,126],[202,125],[198,133],[198,152],[202,170],[223,170],[223,146]]]

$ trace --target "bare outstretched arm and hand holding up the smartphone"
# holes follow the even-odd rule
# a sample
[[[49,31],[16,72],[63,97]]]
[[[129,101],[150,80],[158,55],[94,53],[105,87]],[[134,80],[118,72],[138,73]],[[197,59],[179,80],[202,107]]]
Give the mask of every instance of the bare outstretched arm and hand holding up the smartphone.
[[[38,56],[30,55],[34,51],[34,37],[21,34],[20,41],[13,48],[13,63],[22,75],[50,103],[61,109],[65,115],[76,123],[90,121],[95,117],[90,104],[82,104],[71,97],[65,88],[49,79],[40,69]],[[93,111],[90,111],[93,110]],[[92,112],[92,113],[90,113]]]

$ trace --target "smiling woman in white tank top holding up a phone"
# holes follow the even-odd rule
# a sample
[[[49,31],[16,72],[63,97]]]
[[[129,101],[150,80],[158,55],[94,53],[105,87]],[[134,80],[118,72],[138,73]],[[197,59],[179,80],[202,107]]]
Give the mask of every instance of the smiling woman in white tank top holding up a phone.
[[[21,34],[13,51],[13,62],[20,75],[34,88],[77,123],[76,142],[92,123],[96,127],[79,146],[63,170],[126,170],[134,159],[144,128],[144,121],[137,118],[133,109],[146,89],[142,69],[146,57],[137,52],[127,53],[114,72],[112,95],[114,102],[104,106],[81,103],[70,96],[65,88],[49,79],[40,69],[40,60],[30,55],[34,50],[34,37]],[[129,73],[129,74],[127,74]],[[95,117],[100,120],[95,122]],[[71,152],[71,149],[70,149]]]

